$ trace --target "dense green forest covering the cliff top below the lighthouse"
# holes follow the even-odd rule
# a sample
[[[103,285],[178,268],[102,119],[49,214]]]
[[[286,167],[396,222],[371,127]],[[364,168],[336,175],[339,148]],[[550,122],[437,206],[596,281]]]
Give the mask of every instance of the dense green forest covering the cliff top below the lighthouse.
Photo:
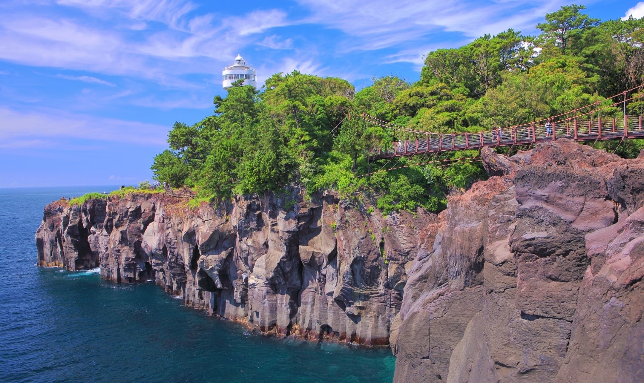
[[[602,101],[609,106],[602,116],[641,113],[638,93],[623,106],[607,98],[642,83],[644,19],[600,22],[584,9],[573,4],[545,15],[536,37],[509,29],[430,52],[413,84],[388,76],[355,92],[343,79],[297,71],[272,75],[261,90],[237,83],[227,97],[214,97],[214,115],[175,123],[169,148],[154,159],[155,179],[194,188],[202,200],[299,184],[310,194],[333,189],[370,199],[384,211],[442,210],[448,193],[486,177],[479,162],[461,159],[478,152],[373,161],[372,148],[410,137],[392,137],[357,117],[450,133],[538,121]],[[639,140],[600,145],[625,157],[644,148]],[[446,159],[459,160],[437,162]]]

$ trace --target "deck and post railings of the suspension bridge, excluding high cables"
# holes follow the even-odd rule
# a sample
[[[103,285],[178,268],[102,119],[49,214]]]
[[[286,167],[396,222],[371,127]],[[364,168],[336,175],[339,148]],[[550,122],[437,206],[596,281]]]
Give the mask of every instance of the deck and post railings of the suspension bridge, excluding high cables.
[[[361,117],[368,123],[388,128],[388,123],[370,115]],[[624,115],[619,119],[565,119],[551,126],[529,124],[471,133],[430,133],[414,131],[415,138],[385,142],[371,151],[376,159],[439,153],[450,150],[478,149],[483,146],[512,146],[554,141],[565,137],[574,141],[603,141],[644,138],[642,115]]]

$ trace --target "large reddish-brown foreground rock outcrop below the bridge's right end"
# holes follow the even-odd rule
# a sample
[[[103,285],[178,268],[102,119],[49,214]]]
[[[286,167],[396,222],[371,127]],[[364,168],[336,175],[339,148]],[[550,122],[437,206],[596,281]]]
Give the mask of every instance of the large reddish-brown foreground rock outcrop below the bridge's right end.
[[[422,231],[393,320],[397,382],[644,381],[644,159],[560,140]]]

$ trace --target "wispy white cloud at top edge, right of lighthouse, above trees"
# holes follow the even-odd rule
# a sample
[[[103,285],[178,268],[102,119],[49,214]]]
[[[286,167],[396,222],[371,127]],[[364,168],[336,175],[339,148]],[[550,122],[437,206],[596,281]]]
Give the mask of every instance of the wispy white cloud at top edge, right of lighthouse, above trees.
[[[397,57],[397,62],[408,57],[408,62],[413,64],[417,64],[419,55],[428,53],[421,48],[428,39],[444,32],[455,34],[455,45],[464,37],[471,41],[486,33],[497,34],[507,28],[531,31],[536,23],[542,21],[544,14],[564,4],[560,0],[489,3],[465,0],[297,1],[312,12],[305,22],[336,28],[348,35],[337,46],[338,52],[392,49],[399,52],[393,55],[388,52],[387,55]],[[403,51],[413,52],[403,54]]]

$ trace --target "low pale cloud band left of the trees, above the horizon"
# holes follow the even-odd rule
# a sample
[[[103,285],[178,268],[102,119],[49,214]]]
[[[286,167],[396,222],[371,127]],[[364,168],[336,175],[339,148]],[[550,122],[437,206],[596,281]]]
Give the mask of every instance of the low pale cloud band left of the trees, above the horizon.
[[[59,110],[24,112],[0,108],[0,148],[52,148],[69,139],[167,145],[168,128],[156,124],[95,117]],[[66,147],[70,149],[70,147]]]

